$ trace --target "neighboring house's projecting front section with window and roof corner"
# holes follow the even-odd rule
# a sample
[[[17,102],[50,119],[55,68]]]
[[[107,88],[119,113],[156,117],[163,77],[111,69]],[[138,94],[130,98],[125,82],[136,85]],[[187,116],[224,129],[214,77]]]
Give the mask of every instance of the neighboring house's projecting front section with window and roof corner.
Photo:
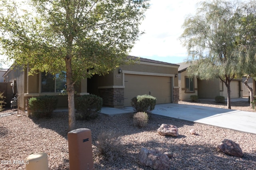
[[[191,95],[198,96],[198,86],[197,86],[197,78],[188,77],[187,76],[187,68],[189,64],[187,63],[177,63],[180,65],[178,68],[178,82],[179,82],[179,96],[180,100],[188,100]]]

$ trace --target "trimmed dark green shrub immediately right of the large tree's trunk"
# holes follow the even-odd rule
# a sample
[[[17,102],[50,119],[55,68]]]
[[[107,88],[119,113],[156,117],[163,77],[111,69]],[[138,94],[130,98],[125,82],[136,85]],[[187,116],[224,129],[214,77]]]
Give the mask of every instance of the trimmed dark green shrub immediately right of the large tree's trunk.
[[[83,95],[75,98],[76,119],[89,120],[98,117],[102,108],[102,98],[96,95]]]

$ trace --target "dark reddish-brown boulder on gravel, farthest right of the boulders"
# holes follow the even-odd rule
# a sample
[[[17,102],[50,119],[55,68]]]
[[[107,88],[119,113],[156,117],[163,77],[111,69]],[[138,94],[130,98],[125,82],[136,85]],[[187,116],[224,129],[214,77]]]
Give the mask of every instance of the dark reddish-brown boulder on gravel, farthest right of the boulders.
[[[232,156],[242,157],[243,152],[238,143],[231,141],[230,139],[224,139],[220,145],[217,146],[220,152],[230,154]]]

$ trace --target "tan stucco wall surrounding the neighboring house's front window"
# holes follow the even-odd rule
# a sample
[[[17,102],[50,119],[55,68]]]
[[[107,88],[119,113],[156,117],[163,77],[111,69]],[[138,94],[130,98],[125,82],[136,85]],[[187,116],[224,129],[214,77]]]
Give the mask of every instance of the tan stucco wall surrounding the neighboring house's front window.
[[[197,78],[195,76],[194,76],[194,92],[185,92],[185,77],[186,76],[187,76],[187,71],[183,71],[178,74],[180,100],[189,100],[191,95],[198,96]]]

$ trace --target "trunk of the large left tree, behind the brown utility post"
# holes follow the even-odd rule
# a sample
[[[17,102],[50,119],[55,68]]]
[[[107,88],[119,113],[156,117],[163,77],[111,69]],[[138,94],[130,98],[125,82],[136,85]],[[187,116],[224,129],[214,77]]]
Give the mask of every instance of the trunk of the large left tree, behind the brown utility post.
[[[66,63],[66,80],[68,92],[68,131],[76,129],[75,102],[74,102],[74,82],[72,80],[71,59],[65,59]]]

